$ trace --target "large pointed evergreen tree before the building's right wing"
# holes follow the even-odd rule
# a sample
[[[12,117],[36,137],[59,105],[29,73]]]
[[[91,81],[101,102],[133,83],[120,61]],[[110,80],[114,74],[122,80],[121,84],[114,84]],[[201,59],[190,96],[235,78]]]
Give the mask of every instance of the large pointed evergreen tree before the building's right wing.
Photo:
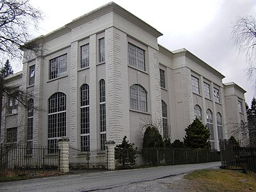
[[[210,148],[210,131],[196,118],[186,129],[184,144],[190,148]]]

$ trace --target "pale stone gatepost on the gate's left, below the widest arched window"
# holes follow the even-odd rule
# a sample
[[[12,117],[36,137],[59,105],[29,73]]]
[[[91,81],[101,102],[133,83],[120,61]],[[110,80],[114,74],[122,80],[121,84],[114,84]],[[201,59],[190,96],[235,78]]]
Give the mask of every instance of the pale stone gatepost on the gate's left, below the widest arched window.
[[[60,138],[58,140],[58,148],[60,150],[59,156],[59,170],[63,173],[69,172],[69,139]]]

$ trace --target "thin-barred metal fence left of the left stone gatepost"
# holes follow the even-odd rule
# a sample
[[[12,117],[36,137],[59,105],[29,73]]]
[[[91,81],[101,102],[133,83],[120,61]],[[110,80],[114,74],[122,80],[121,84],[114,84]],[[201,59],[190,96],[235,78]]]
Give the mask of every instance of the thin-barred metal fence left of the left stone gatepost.
[[[13,170],[18,173],[32,173],[58,170],[58,149],[49,153],[45,146],[2,145],[0,148],[0,170]]]

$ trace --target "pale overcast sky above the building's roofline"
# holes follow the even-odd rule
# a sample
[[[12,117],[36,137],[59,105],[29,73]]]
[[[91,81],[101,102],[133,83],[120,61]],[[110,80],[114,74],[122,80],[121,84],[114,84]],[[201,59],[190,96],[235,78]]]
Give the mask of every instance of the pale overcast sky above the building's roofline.
[[[44,12],[35,36],[45,35],[73,19],[109,3],[105,0],[30,0]],[[256,15],[255,0],[115,0],[125,10],[163,33],[159,44],[170,51],[186,48],[225,76],[223,83],[234,81],[247,91],[251,103],[254,89],[247,81],[246,62],[238,54],[230,31],[237,17]]]

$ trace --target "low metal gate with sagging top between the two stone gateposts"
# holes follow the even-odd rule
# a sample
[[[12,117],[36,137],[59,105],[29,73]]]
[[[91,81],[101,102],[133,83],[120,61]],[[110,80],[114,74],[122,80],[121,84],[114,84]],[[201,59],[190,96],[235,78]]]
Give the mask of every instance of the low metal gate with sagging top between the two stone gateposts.
[[[79,148],[69,147],[70,170],[92,170],[106,168],[106,151],[95,149],[81,151]]]

